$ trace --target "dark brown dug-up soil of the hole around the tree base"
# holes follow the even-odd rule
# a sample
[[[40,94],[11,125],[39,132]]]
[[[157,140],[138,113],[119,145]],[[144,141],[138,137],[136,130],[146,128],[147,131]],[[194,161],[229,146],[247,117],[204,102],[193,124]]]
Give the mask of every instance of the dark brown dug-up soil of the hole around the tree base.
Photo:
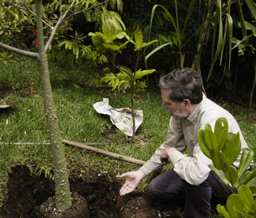
[[[70,191],[86,199],[90,218],[182,217],[180,207],[154,200],[147,193],[121,197],[122,183],[114,173],[88,170],[82,177],[72,175]],[[26,166],[16,166],[9,175],[8,198],[0,207],[1,218],[41,218],[40,207],[54,196],[54,182],[43,175],[33,177]]]

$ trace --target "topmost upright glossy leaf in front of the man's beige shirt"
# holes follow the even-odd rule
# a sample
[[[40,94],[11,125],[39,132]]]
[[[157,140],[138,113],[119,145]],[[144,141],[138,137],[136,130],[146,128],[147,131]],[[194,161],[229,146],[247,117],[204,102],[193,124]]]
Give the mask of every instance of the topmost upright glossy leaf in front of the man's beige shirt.
[[[218,143],[217,150],[222,150],[228,137],[228,120],[225,117],[220,117],[216,120],[214,126],[214,134]]]

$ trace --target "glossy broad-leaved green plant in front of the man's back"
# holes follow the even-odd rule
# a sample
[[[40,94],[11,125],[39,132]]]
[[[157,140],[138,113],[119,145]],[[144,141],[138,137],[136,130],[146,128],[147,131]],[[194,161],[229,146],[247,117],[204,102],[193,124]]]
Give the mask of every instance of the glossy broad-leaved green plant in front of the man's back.
[[[216,120],[214,132],[210,124],[198,131],[200,149],[212,164],[211,168],[221,181],[234,189],[227,199],[227,210],[218,204],[217,210],[224,217],[255,217],[256,216],[256,170],[248,168],[253,160],[253,150],[244,149],[239,167],[232,164],[241,151],[239,133],[228,132],[228,122],[225,117]]]

